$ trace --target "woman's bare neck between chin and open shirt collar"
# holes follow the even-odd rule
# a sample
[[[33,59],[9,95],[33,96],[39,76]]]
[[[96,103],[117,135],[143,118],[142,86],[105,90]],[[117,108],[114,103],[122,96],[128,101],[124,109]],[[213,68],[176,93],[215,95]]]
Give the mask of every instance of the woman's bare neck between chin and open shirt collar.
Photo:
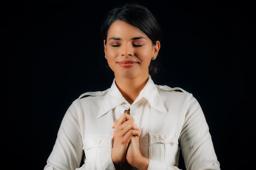
[[[116,85],[124,98],[132,104],[139,96],[139,92],[144,88],[148,81],[148,76],[145,78],[116,78]]]

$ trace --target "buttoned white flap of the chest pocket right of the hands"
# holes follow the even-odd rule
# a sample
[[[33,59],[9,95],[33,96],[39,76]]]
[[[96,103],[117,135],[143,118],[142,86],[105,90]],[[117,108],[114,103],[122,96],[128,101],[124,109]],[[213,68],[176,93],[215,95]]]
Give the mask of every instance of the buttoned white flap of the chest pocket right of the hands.
[[[149,132],[149,145],[153,145],[155,143],[179,144],[178,139],[177,139],[177,132],[175,132],[175,131]]]

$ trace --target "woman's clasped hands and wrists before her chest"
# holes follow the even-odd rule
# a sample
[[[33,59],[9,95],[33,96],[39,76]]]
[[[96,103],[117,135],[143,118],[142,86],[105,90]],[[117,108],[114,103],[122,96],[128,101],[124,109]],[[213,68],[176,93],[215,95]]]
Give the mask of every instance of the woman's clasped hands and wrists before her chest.
[[[147,169],[148,159],[141,155],[139,150],[139,136],[141,131],[135,124],[132,116],[124,112],[117,119],[112,128],[114,145],[111,152],[115,165],[127,161],[130,165],[139,169]]]

